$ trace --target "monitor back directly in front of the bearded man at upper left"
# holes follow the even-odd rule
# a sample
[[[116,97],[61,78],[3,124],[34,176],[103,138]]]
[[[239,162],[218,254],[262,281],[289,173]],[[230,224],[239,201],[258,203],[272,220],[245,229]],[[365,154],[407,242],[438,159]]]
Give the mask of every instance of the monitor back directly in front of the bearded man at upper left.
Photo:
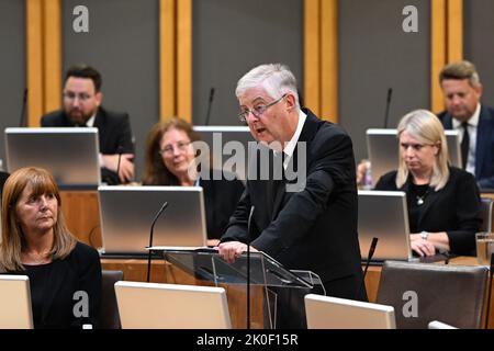
[[[101,183],[98,128],[5,128],[7,169],[48,170],[60,188],[97,189]]]

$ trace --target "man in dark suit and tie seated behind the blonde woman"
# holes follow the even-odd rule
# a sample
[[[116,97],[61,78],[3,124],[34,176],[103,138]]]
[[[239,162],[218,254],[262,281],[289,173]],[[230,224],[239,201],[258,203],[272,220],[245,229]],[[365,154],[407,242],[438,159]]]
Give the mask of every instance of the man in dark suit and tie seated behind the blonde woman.
[[[475,176],[480,188],[494,189],[494,110],[480,103],[475,66],[465,60],[447,65],[439,81],[446,111],[438,117],[446,129],[460,132],[463,169]]]

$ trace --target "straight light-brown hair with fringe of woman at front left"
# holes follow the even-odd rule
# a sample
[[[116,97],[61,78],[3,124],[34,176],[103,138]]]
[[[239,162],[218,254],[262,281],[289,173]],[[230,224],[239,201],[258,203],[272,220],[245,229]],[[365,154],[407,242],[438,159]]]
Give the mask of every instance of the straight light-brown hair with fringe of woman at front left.
[[[57,199],[57,222],[54,227],[53,248],[49,252],[53,259],[66,258],[77,244],[77,239],[65,225],[61,214],[60,194],[52,174],[42,168],[21,168],[10,174],[3,188],[0,272],[24,270],[21,261],[21,252],[26,242],[18,220],[16,205],[26,186],[31,186],[34,196],[53,194]]]

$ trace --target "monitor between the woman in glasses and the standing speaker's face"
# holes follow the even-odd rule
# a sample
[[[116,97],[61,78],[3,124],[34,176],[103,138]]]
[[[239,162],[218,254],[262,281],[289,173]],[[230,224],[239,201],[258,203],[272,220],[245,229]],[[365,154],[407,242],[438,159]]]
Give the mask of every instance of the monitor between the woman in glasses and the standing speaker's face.
[[[236,173],[242,181],[247,179],[248,146],[249,143],[256,143],[249,127],[201,125],[193,128],[201,140],[210,147],[214,169]],[[243,154],[237,156],[238,149],[242,149]],[[235,158],[236,156],[237,158]],[[229,159],[231,161],[228,161]],[[238,160],[238,162],[234,162],[234,160]]]

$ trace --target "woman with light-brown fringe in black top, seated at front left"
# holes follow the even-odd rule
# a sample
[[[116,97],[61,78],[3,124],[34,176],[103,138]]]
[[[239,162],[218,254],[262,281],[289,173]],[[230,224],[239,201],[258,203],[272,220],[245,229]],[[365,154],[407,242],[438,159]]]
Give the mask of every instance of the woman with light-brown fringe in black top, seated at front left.
[[[30,278],[34,328],[98,326],[100,258],[68,231],[46,170],[21,168],[7,180],[0,242],[0,272]]]

